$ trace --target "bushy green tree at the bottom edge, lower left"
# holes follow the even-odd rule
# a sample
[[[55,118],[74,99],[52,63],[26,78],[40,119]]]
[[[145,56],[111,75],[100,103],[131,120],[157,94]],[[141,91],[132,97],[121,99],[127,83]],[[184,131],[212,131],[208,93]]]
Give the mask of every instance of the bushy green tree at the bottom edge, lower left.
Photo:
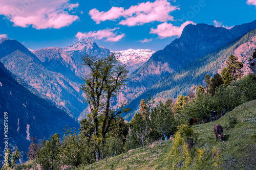
[[[58,134],[51,135],[50,139],[43,142],[37,152],[37,161],[42,170],[60,169],[60,138]]]

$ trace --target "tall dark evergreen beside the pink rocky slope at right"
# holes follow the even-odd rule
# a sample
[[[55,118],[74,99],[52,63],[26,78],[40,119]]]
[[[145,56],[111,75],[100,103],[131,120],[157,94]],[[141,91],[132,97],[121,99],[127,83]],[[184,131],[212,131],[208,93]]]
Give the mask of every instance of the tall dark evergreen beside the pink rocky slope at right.
[[[232,76],[231,80],[237,80],[243,76],[243,71],[241,68],[243,68],[243,62],[238,61],[238,58],[231,55],[228,57],[227,68],[230,71],[230,74]]]

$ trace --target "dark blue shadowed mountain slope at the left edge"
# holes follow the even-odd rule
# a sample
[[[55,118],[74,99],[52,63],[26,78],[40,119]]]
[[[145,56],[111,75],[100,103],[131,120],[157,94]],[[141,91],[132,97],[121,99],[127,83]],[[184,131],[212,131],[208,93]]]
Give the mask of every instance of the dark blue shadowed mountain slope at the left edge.
[[[22,80],[19,80],[19,82]],[[26,84],[23,82],[23,84]],[[28,88],[28,85],[26,85]],[[0,113],[8,113],[8,137],[9,147],[12,151],[18,148],[22,160],[26,160],[26,152],[30,144],[30,137],[37,136],[38,139],[50,134],[59,133],[63,135],[63,128],[78,128],[78,123],[66,112],[56,108],[44,99],[33,94],[14,77],[0,62]],[[0,117],[0,131],[4,132],[4,116]],[[4,133],[0,136],[3,139]],[[3,152],[3,142],[0,150]],[[3,155],[3,154],[2,154]]]

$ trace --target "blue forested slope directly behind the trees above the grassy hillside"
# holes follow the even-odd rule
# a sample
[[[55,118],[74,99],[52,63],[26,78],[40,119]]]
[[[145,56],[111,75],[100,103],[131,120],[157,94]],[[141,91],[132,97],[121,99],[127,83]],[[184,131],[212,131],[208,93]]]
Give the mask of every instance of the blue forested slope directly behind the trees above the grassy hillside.
[[[131,120],[139,109],[138,103],[140,103],[141,99],[147,99],[147,94],[153,96],[156,102],[160,100],[165,102],[167,99],[177,98],[178,95],[186,94],[187,90],[192,86],[197,86],[199,83],[202,85],[205,75],[209,74],[210,76],[214,76],[216,72],[220,73],[220,70],[223,68],[222,66],[226,64],[225,61],[227,61],[230,55],[234,55],[234,51],[240,45],[247,42],[256,44],[256,42],[252,40],[255,35],[256,29],[218,50],[190,62],[180,70],[174,72],[174,74],[169,75],[150,89],[141,93],[141,95],[127,105],[127,108],[133,108],[132,111],[122,116],[128,121]],[[251,51],[253,51],[253,49]],[[249,57],[249,54],[244,56],[244,58],[246,58],[245,61],[249,61]],[[246,66],[246,63],[244,63],[244,66]]]

